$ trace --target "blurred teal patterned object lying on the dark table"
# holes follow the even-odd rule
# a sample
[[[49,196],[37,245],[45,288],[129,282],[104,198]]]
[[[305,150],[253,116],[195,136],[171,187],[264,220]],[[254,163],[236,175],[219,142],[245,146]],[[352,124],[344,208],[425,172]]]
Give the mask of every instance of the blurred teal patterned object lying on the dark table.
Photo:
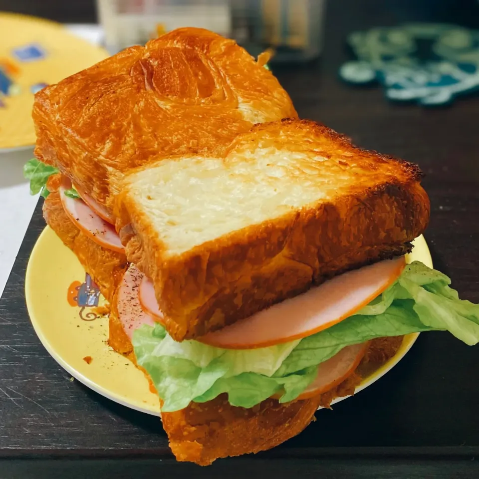
[[[479,30],[407,23],[353,32],[348,43],[357,60],[341,66],[341,78],[377,81],[391,100],[442,105],[479,89]]]

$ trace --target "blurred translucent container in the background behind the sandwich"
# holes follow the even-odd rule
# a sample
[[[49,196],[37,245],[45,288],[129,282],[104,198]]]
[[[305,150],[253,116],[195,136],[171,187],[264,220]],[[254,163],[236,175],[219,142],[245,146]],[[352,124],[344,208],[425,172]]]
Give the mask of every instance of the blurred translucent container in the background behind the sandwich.
[[[97,0],[111,53],[182,26],[234,38],[252,55],[306,61],[320,53],[324,0]]]

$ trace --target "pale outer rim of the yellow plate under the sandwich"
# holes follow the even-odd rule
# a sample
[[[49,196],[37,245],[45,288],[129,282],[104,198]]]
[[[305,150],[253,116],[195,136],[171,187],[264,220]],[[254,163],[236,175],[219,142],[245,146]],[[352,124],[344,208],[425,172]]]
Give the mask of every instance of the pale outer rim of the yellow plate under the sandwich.
[[[133,409],[145,414],[149,414],[152,416],[160,416],[160,404],[158,403],[158,409],[153,409],[151,407],[144,407],[141,404],[137,403],[136,401],[128,401],[125,398],[125,395],[120,395],[115,392],[111,392],[108,388],[105,388],[104,386],[101,386],[101,384],[98,384],[97,382],[91,380],[84,374],[82,374],[80,371],[75,369],[73,366],[68,364],[66,360],[63,359],[63,357],[58,354],[55,351],[55,348],[51,346],[50,341],[44,334],[41,325],[39,321],[37,321],[36,318],[32,316],[30,311],[32,310],[32,306],[30,305],[30,293],[29,291],[32,288],[32,264],[35,262],[35,256],[39,254],[41,251],[41,247],[43,246],[43,242],[45,241],[45,237],[50,234],[55,233],[53,230],[49,227],[46,226],[43,231],[40,233],[38,236],[38,239],[35,241],[35,244],[31,250],[30,256],[28,258],[27,266],[26,266],[26,271],[25,271],[25,302],[26,302],[26,307],[27,307],[27,312],[28,316],[30,319],[30,323],[33,327],[33,330],[35,331],[35,334],[37,335],[38,339],[40,340],[41,344],[43,347],[46,349],[47,353],[57,362],[57,364],[63,368],[66,372],[68,372],[73,378],[81,382],[83,385],[88,387],[89,389],[95,391],[96,393],[100,394],[103,397],[106,397],[107,399],[110,399],[111,401],[114,401],[118,404],[121,404],[122,406],[125,406],[129,409]],[[423,254],[424,254],[424,260],[423,262],[427,263],[429,267],[433,267],[433,262],[431,258],[431,252],[429,250],[429,247],[427,245],[427,242],[424,238],[423,235],[420,235],[418,238],[416,238],[413,243],[415,245],[421,244],[421,247],[423,249]],[[67,248],[67,246],[64,246]],[[72,254],[74,254],[71,251]],[[382,378],[385,374],[387,374],[391,369],[394,368],[403,358],[404,356],[409,352],[413,344],[416,342],[417,338],[419,337],[420,333],[411,333],[405,335],[403,342],[396,352],[396,354],[390,358],[386,363],[384,363],[380,368],[378,368],[376,371],[371,373],[368,377],[364,378],[363,381],[356,387],[354,393],[349,396],[344,396],[340,398],[336,398],[331,402],[331,405],[337,404],[341,401],[344,401],[347,398],[350,398],[351,396],[354,396],[358,394],[359,392],[363,391],[367,387],[371,386],[373,383],[378,381],[380,378]],[[115,352],[113,349],[110,350],[111,354],[119,354]],[[323,409],[322,407],[319,407],[318,410]]]

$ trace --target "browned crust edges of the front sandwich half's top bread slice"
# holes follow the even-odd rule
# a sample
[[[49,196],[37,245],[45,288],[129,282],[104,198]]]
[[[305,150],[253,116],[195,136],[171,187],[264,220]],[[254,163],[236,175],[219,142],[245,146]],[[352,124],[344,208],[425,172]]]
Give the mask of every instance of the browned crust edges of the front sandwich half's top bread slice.
[[[127,257],[152,278],[177,341],[248,317],[345,270],[404,254],[428,224],[429,198],[415,165],[356,148],[306,120],[256,125],[238,136],[225,162],[258,144],[325,157],[320,174],[339,178],[330,182],[332,200],[168,255],[135,198],[126,192],[117,198]],[[346,169],[357,182],[342,188]]]

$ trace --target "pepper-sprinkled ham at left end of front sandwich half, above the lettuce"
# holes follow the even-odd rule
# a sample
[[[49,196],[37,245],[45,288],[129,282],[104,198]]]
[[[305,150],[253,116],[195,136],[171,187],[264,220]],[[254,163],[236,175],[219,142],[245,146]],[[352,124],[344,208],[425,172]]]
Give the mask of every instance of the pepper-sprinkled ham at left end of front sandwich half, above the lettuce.
[[[143,324],[155,325],[153,316],[143,311],[138,299],[138,287],[143,276],[143,273],[134,264],[130,264],[123,275],[118,291],[118,317],[130,340],[135,329]]]

